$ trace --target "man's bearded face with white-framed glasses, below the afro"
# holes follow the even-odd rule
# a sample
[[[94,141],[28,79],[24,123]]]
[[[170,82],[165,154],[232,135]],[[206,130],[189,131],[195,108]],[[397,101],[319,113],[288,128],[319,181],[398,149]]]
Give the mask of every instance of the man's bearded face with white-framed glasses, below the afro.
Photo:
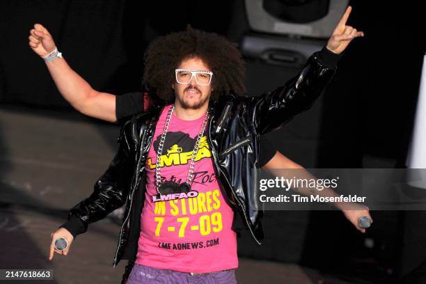
[[[180,63],[178,69],[187,69],[194,71],[212,71],[203,60],[197,57],[187,58]],[[184,109],[200,109],[208,104],[210,94],[212,93],[212,84],[200,86],[197,84],[195,77],[192,77],[189,84],[173,84],[175,90],[175,103]]]

